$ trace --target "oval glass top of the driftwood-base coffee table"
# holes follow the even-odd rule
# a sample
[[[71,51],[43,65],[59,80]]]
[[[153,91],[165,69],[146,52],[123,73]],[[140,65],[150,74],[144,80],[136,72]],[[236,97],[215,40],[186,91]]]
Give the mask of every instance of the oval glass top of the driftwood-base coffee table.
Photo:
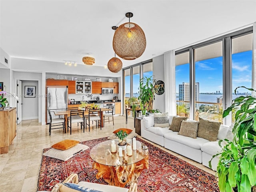
[[[111,152],[111,141],[107,140],[94,146],[90,151],[92,160],[107,166],[124,166],[134,164],[148,155],[148,147],[136,140],[136,150],[132,150],[132,156],[127,156],[127,150],[123,150],[122,157],[118,156],[118,140],[115,140],[116,153]],[[127,141],[131,145],[132,140]]]

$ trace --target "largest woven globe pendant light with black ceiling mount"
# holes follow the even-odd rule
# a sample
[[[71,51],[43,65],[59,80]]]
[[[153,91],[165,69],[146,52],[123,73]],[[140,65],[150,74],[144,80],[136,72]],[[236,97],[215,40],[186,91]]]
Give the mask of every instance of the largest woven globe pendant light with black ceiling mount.
[[[113,38],[114,52],[124,60],[134,60],[140,57],[146,49],[145,34],[140,26],[130,22],[132,16],[132,13],[126,13],[129,22],[119,26]]]

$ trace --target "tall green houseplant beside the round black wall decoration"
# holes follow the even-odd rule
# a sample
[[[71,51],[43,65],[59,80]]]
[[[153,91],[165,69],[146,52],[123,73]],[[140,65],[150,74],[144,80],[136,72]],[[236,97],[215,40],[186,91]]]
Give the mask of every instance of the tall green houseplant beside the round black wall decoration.
[[[155,84],[156,80],[153,76],[143,77],[140,79],[139,85],[139,102],[140,108],[142,110],[142,115],[146,114],[146,111],[151,112],[153,110],[153,102],[155,99]]]

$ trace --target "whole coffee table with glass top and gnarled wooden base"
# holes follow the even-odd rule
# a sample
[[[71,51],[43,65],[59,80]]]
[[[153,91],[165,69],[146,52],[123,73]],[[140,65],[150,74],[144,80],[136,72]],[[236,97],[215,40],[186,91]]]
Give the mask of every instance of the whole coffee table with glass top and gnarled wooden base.
[[[118,141],[115,141],[116,153],[111,152],[111,141],[101,142],[90,151],[94,160],[92,168],[98,170],[96,178],[103,178],[109,185],[119,187],[136,182],[142,170],[148,169],[148,147],[136,141],[136,150],[132,150],[132,156],[127,156],[127,150],[123,150],[123,156],[119,157]]]

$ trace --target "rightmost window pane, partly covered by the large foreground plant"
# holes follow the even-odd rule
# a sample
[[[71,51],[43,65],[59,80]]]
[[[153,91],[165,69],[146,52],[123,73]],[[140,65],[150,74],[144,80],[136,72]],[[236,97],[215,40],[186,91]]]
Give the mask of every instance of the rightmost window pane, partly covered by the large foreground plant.
[[[252,33],[232,38],[232,100],[239,96],[250,95],[251,92],[239,86],[252,86]],[[232,122],[235,121],[235,112],[232,112]]]

